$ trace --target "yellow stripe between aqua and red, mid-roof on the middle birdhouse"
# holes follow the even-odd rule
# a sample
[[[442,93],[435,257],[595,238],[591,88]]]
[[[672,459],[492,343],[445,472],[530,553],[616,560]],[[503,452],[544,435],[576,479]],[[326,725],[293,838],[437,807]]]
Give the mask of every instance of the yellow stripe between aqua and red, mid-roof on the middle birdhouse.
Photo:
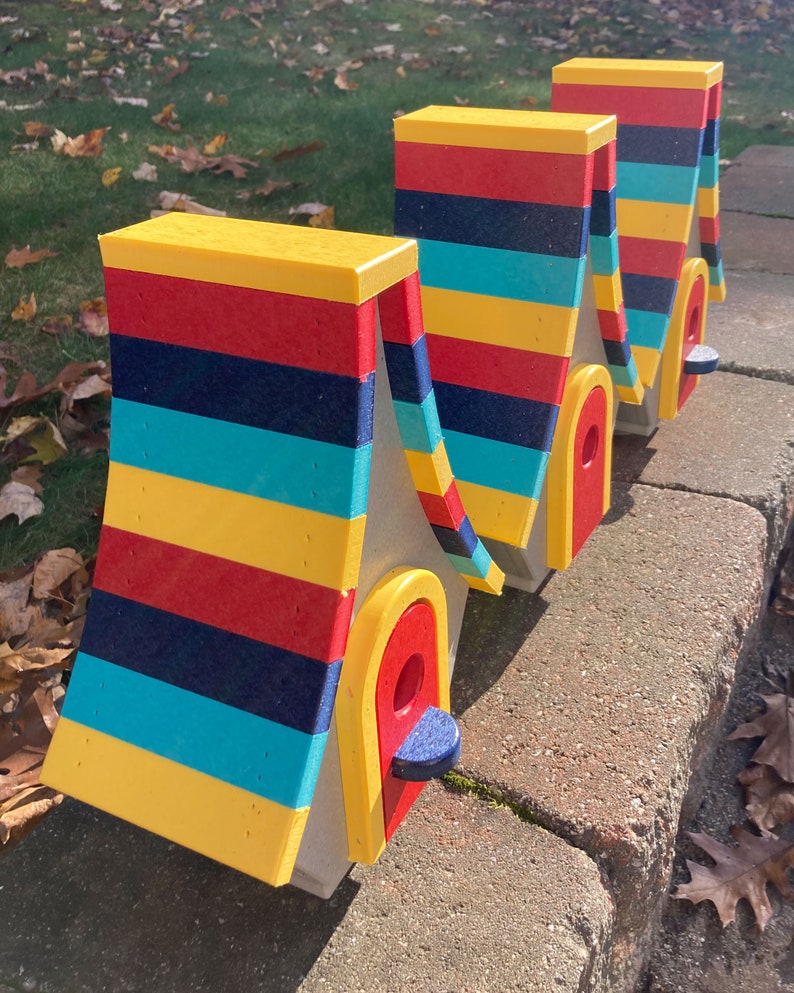
[[[425,330],[465,341],[570,355],[579,309],[422,287]]]

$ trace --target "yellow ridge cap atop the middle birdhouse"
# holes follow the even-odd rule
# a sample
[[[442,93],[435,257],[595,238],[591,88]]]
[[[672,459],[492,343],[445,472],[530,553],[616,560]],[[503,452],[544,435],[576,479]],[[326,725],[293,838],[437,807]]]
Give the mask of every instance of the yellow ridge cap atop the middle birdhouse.
[[[477,107],[425,107],[394,122],[397,141],[572,155],[587,155],[616,133],[614,116]]]

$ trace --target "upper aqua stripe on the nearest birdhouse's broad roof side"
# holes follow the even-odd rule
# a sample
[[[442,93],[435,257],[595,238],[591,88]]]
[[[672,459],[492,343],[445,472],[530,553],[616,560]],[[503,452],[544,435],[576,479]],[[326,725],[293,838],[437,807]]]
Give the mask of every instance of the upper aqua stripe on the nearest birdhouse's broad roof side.
[[[372,445],[348,448],[113,399],[111,458],[335,517],[367,509]]]

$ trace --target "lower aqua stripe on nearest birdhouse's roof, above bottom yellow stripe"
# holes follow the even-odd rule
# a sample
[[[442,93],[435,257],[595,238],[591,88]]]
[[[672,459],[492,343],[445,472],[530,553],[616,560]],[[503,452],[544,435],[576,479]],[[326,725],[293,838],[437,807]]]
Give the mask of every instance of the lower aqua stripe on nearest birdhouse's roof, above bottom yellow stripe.
[[[296,731],[84,652],[69,681],[64,716],[293,809],[311,803],[328,737]]]

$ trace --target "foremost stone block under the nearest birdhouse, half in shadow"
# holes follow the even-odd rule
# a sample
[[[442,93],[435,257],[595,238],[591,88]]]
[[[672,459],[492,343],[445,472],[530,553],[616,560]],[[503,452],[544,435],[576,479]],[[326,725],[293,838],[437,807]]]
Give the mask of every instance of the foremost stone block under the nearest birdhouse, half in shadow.
[[[67,801],[0,862],[0,991],[596,991],[612,918],[586,855],[437,784],[329,901]]]

